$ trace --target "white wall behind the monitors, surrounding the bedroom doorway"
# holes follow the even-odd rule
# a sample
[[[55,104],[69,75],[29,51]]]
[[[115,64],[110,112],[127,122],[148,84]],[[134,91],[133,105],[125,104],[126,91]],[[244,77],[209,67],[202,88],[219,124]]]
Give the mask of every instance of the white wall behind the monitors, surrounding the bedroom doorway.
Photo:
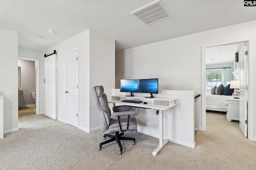
[[[201,69],[205,64],[201,63],[202,45],[224,44],[246,37],[255,40],[255,30],[256,20],[119,51],[116,53],[116,88],[119,88],[120,78],[159,78],[161,90],[196,90],[196,95],[201,94]],[[256,47],[254,42],[252,47],[250,51]],[[252,54],[250,57],[255,58],[256,54]],[[256,88],[255,83],[252,88]],[[195,127],[198,129],[202,128],[201,108],[202,97],[195,101]]]

